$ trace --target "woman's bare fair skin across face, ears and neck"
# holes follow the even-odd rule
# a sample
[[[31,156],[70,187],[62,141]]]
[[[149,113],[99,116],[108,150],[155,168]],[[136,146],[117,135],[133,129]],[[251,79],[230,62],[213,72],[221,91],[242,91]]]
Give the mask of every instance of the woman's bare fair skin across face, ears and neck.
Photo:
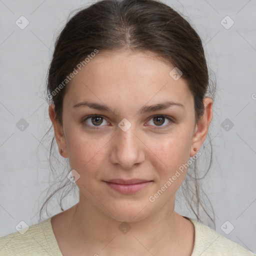
[[[194,226],[174,211],[186,169],[154,202],[148,199],[195,155],[212,119],[212,99],[205,97],[204,114],[195,122],[193,96],[182,76],[169,75],[172,68],[152,52],[99,52],[66,87],[63,126],[55,120],[54,104],[49,106],[60,154],[80,175],[79,202],[51,219],[63,255],[191,255]],[[84,100],[111,111],[73,107]],[[139,113],[144,105],[168,100],[183,107]],[[90,114],[103,119],[85,120]],[[123,118],[131,124],[126,131],[118,126]],[[127,195],[104,182],[113,178],[151,182]],[[118,228],[123,221],[130,226],[125,234]]]

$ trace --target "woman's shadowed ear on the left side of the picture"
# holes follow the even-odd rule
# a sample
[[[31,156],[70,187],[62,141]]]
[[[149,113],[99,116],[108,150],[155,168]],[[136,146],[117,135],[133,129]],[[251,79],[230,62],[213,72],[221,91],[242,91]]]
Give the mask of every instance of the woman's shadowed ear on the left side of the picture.
[[[49,116],[50,116],[50,120],[54,127],[54,134],[55,134],[55,139],[56,139],[56,142],[58,145],[58,151],[63,157],[67,158],[68,154],[67,154],[66,141],[65,141],[65,136],[64,136],[64,132],[63,132],[63,127],[60,124],[60,122],[56,120],[54,104],[49,105]],[[61,152],[61,149],[63,149],[63,152]]]

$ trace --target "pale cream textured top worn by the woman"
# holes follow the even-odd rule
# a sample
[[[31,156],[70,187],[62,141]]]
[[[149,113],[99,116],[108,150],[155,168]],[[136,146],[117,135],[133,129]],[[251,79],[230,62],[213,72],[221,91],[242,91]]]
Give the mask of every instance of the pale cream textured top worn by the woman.
[[[0,256],[63,256],[52,230],[50,218],[0,237]],[[194,224],[195,240],[191,256],[252,256],[252,252],[225,238],[208,226],[188,218]],[[22,229],[21,229],[22,230]]]

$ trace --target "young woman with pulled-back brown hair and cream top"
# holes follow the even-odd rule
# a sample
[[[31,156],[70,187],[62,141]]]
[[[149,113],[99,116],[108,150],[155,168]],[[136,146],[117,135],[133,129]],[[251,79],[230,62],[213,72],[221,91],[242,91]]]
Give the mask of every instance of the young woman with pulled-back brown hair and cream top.
[[[198,34],[163,3],[103,0],[75,14],[47,91],[79,202],[1,237],[1,255],[253,255],[174,211],[212,119],[208,80]]]

